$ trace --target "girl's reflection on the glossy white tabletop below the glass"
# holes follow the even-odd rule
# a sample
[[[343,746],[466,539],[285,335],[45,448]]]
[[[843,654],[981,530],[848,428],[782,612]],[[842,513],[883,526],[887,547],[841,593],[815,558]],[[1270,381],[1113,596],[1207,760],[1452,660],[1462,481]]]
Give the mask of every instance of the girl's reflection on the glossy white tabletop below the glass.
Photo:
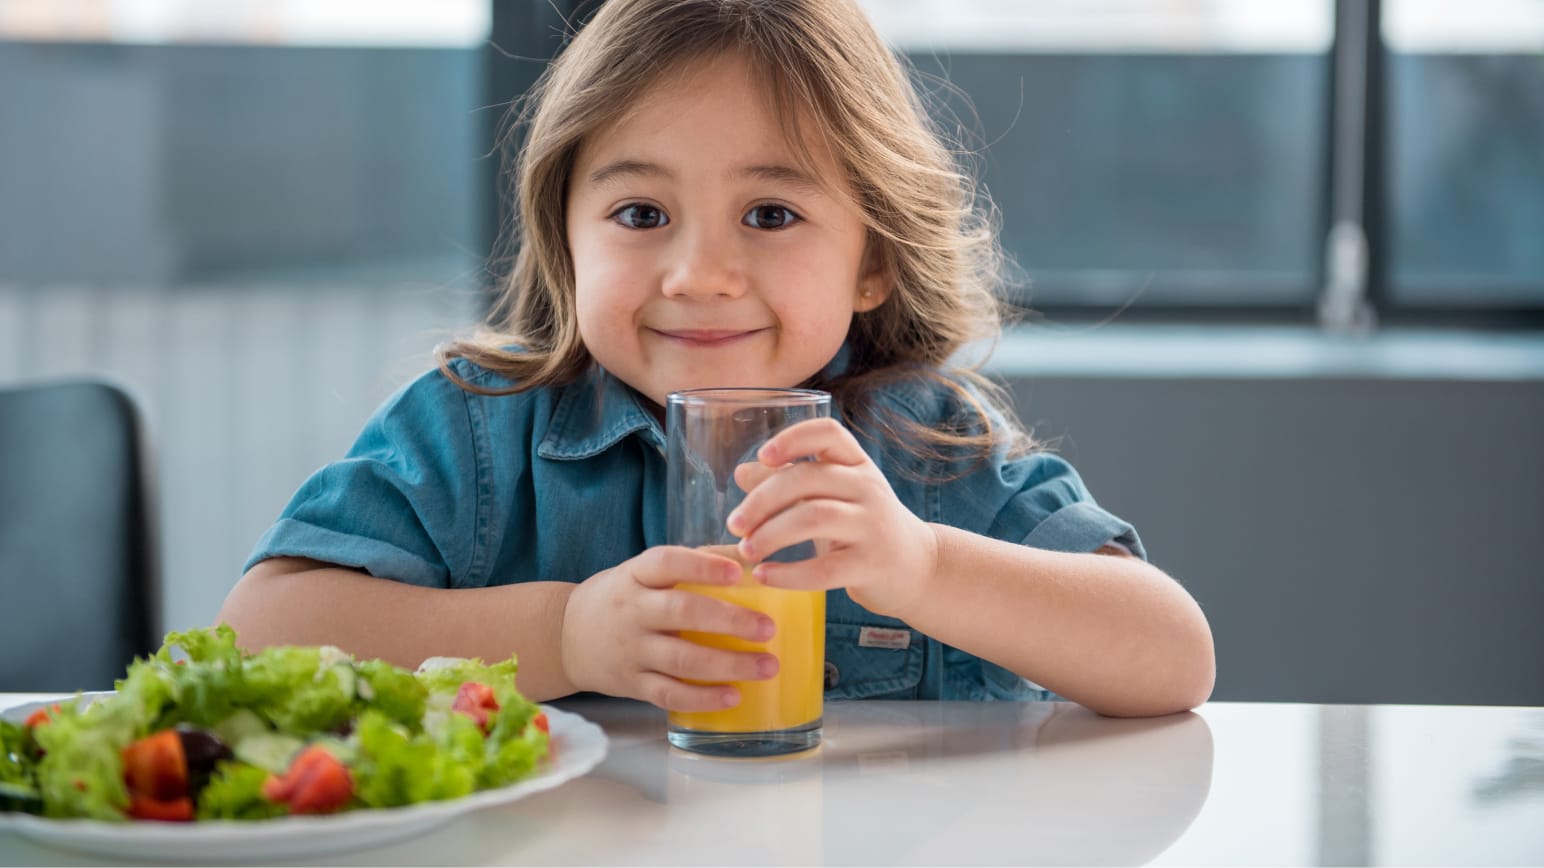
[[[624,817],[615,834],[630,840],[631,862],[1065,865],[1085,862],[1090,842],[1101,862],[1146,862],[1186,829],[1212,777],[1210,732],[1194,714],[832,703],[820,749],[726,761],[661,749],[659,718],[641,706],[570,707],[611,735],[611,755],[591,775],[610,786],[550,802]],[[528,857],[621,853],[596,846]]]

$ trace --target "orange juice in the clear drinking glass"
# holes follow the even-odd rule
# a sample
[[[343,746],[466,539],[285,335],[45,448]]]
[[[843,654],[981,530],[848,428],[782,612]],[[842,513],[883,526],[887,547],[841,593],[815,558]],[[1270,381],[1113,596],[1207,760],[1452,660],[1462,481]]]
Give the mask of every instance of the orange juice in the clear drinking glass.
[[[778,673],[766,681],[733,681],[740,704],[718,712],[670,712],[670,724],[698,732],[772,732],[820,720],[826,676],[826,593],[769,588],[750,578],[735,585],[676,585],[681,590],[726,599],[772,618],[770,641],[750,643],[723,633],[682,630],[681,638],[738,652],[766,652],[778,659]]]

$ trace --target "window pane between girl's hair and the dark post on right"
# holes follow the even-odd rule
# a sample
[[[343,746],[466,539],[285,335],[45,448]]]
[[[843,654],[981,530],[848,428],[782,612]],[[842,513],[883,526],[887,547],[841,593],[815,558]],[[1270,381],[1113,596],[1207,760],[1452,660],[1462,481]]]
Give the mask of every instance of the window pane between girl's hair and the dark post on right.
[[[985,139],[982,176],[1031,306],[1312,303],[1329,0],[866,9],[923,77],[974,105],[979,122],[950,108]]]

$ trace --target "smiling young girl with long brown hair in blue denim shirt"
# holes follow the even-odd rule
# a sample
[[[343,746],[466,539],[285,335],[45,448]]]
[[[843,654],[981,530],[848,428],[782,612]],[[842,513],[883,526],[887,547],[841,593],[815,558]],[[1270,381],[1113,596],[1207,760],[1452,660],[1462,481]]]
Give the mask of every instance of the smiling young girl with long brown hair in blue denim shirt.
[[[301,487],[221,612],[244,644],[519,653],[534,700],[729,707],[778,661],[678,632],[772,622],[673,590],[740,565],[662,545],[661,408],[814,386],[837,419],[767,443],[730,531],[750,561],[828,541],[757,570],[828,590],[828,698],[1207,698],[1197,604],[950,364],[999,327],[996,239],[851,0],[610,0],[528,122],[497,331]]]

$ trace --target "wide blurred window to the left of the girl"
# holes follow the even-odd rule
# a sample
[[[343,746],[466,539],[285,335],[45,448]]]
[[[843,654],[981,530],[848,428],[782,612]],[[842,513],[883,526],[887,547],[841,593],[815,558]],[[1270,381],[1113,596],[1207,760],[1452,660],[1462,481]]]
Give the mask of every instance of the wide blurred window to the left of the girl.
[[[0,0],[0,284],[474,275],[483,0]]]

